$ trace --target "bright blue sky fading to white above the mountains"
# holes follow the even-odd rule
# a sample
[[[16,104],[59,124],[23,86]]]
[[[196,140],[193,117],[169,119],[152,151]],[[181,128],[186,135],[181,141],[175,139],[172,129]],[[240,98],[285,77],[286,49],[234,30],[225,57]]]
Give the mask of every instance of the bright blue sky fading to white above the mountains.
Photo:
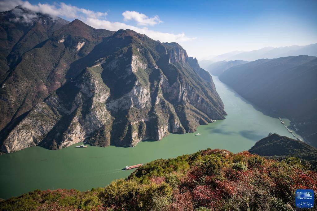
[[[25,3],[21,0],[11,0],[10,3],[12,2]],[[38,7],[38,3],[42,4],[41,7]],[[316,0],[29,0],[28,5],[45,10],[45,5],[60,9],[61,3],[73,8],[107,13],[98,17],[94,14],[93,19],[91,14],[88,17],[80,11],[75,13],[78,19],[95,28],[118,30],[129,27],[155,40],[176,41],[190,56],[198,59],[208,59],[213,55],[235,50],[250,51],[268,46],[307,45],[317,42]],[[128,13],[123,16],[125,11]],[[74,16],[67,13],[65,15],[63,11],[57,15],[69,21],[74,19]],[[138,19],[144,16],[146,18]]]

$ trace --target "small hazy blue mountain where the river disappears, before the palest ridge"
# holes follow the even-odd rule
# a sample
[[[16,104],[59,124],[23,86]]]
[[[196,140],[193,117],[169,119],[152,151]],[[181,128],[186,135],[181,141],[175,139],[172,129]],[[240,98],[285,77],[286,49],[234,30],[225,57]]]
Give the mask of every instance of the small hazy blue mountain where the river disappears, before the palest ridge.
[[[204,66],[204,68],[210,72],[210,74],[215,76],[220,76],[224,71],[228,70],[230,67],[236,65],[242,65],[248,63],[248,61],[235,60],[235,61],[219,61],[212,63],[210,65]]]

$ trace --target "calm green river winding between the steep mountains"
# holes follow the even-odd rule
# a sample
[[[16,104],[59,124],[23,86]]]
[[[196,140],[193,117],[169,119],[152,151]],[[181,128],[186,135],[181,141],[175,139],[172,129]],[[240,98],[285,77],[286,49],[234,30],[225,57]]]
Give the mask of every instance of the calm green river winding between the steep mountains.
[[[123,171],[126,165],[174,158],[208,147],[241,152],[250,149],[270,132],[292,138],[279,119],[263,114],[217,77],[213,79],[228,116],[225,120],[199,126],[196,133],[201,135],[170,134],[161,141],[143,141],[135,147],[75,148],[73,145],[61,150],[47,150],[35,146],[4,154],[0,156],[0,198],[7,199],[35,189],[84,191],[104,187],[134,171]],[[289,125],[287,119],[283,120]]]

